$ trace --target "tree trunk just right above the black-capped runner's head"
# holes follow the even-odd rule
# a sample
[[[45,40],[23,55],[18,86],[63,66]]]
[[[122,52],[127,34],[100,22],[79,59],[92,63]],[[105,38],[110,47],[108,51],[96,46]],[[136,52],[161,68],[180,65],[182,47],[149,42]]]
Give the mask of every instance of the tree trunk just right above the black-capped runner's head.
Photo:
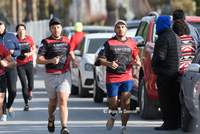
[[[70,15],[69,15],[69,7],[72,4],[72,0],[63,0],[64,4],[64,26],[69,26],[70,23]]]

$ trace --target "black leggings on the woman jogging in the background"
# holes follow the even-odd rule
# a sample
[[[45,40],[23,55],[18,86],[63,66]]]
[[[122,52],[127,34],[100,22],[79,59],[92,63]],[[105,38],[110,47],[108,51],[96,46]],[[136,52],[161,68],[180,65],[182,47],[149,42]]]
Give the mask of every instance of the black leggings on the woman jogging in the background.
[[[25,104],[28,104],[28,91],[30,92],[33,90],[33,82],[34,82],[33,62],[29,61],[26,64],[17,66],[17,72],[22,85],[22,94],[24,102]],[[28,80],[28,90],[27,90],[26,76]]]

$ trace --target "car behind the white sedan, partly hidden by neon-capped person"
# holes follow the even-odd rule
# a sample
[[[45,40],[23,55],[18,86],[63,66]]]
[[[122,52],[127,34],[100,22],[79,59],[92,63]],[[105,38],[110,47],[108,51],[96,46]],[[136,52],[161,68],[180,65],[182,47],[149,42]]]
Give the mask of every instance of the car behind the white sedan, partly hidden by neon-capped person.
[[[84,33],[113,33],[114,28],[112,26],[83,26]],[[67,36],[69,40],[71,39],[72,35],[75,33],[74,27],[64,27],[61,35]]]

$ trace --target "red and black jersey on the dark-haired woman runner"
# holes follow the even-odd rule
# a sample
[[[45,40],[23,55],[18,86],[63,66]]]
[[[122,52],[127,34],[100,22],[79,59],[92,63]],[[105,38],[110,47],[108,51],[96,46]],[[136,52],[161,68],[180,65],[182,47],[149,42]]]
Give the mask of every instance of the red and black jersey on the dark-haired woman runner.
[[[31,36],[26,35],[25,39],[20,40],[17,36],[19,46],[21,47],[21,54],[17,57],[17,66],[23,65],[29,61],[33,62],[33,55],[26,57],[24,53],[29,53],[32,51],[32,47],[35,45]]]

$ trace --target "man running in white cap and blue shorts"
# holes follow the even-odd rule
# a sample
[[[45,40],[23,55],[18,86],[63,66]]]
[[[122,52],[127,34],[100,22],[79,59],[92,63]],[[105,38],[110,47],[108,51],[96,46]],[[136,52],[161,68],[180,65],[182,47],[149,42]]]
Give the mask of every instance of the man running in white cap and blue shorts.
[[[121,134],[129,134],[126,129],[129,118],[130,97],[133,86],[132,64],[141,66],[135,41],[125,36],[127,32],[126,22],[118,20],[114,24],[116,36],[105,42],[101,48],[95,65],[107,66],[106,89],[109,98],[110,118],[106,128],[111,130],[118,114],[118,93],[121,94],[122,127]],[[105,60],[107,59],[107,60]]]

